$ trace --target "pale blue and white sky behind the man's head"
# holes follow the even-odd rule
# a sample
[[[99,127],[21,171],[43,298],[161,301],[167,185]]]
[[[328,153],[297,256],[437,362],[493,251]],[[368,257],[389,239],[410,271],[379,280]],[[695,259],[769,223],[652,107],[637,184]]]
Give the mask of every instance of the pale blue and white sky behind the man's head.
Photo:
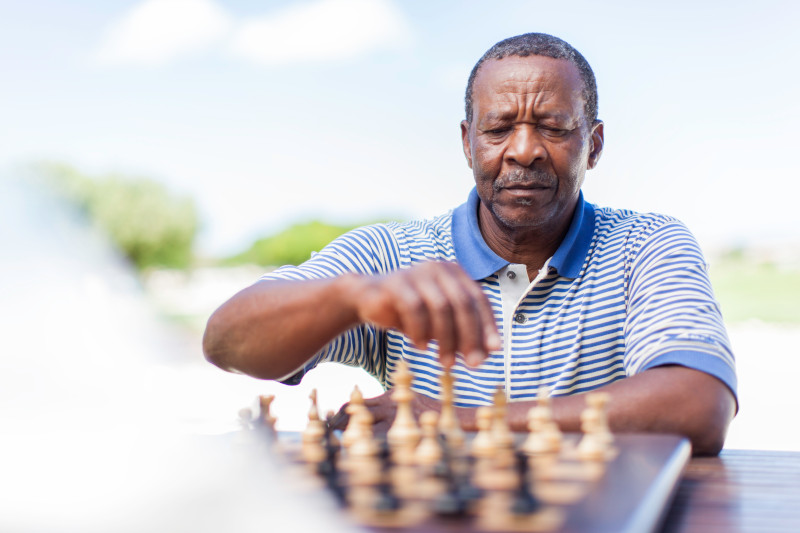
[[[704,248],[799,243],[798,20],[769,0],[0,0],[0,172],[157,179],[195,199],[207,254],[435,216],[473,183],[472,65],[541,31],[598,80],[589,201],[676,216]]]

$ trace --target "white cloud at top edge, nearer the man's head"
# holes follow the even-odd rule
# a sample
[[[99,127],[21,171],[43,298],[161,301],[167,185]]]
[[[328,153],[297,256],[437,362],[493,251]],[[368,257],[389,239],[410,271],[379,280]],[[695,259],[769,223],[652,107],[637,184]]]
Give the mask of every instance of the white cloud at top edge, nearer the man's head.
[[[246,19],[230,43],[234,55],[262,65],[341,60],[410,39],[390,0],[317,0]]]

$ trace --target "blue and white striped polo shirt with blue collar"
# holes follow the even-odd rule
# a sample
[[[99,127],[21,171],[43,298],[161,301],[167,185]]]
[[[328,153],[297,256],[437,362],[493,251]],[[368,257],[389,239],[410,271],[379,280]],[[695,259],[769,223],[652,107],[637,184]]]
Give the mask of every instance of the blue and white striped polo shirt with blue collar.
[[[480,284],[494,310],[503,348],[478,367],[457,357],[456,404],[491,404],[585,392],[660,365],[711,374],[736,395],[730,342],[702,252],[678,220],[598,208],[578,200],[563,242],[534,279],[525,265],[495,254],[478,228],[478,195],[427,220],[375,224],[334,240],[300,266],[264,280],[308,280],[346,272],[386,274],[425,261],[454,261]],[[362,324],[333,339],[289,383],[323,361],[364,368],[391,388],[400,358],[413,389],[439,397],[442,372],[426,349],[393,329]]]

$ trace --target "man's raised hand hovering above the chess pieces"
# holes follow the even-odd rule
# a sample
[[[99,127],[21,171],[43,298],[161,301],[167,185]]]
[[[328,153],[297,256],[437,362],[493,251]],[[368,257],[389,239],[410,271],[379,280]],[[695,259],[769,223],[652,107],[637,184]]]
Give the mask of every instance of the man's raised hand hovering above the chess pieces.
[[[359,320],[397,329],[420,349],[437,341],[445,367],[455,363],[456,352],[477,366],[501,347],[489,300],[456,263],[422,263],[361,279]]]

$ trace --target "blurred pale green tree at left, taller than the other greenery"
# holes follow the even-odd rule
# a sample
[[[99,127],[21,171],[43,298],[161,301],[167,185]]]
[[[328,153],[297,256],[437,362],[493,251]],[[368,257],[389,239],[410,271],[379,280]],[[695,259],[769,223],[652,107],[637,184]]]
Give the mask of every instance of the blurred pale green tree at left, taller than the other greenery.
[[[94,223],[138,268],[185,268],[198,229],[194,202],[146,178],[89,177],[65,165],[42,165],[40,175]]]

